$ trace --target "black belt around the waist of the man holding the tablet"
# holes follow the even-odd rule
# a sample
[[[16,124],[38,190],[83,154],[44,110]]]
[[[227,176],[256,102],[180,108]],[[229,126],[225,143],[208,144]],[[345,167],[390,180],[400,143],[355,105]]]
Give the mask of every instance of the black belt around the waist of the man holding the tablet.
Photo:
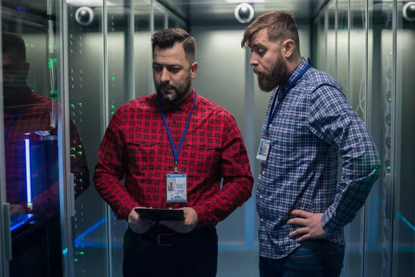
[[[190,233],[154,233],[147,232],[143,234],[133,233],[130,228],[127,229],[130,237],[143,242],[151,242],[163,247],[172,247],[179,245],[201,244],[201,242],[217,242],[216,227],[206,226],[196,229]]]

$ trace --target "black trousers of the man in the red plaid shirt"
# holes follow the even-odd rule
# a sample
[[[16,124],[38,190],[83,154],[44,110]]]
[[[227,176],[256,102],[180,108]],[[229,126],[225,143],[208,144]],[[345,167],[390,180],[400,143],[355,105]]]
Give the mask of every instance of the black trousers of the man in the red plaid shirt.
[[[217,261],[215,226],[187,234],[124,234],[124,277],[214,277]]]

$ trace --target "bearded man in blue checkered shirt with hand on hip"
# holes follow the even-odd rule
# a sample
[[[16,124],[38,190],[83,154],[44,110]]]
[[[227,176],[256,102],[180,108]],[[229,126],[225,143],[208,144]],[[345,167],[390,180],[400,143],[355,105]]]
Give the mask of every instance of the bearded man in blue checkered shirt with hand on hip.
[[[259,87],[272,91],[257,154],[260,275],[340,276],[344,226],[378,179],[374,141],[340,84],[301,56],[291,13],[258,17],[246,44]]]

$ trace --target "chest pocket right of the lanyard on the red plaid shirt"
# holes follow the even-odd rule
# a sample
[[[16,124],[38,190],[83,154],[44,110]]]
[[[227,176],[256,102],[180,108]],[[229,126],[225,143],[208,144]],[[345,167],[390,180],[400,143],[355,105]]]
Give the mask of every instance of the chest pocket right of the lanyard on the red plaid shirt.
[[[186,144],[187,166],[197,173],[212,175],[219,170],[221,159],[221,145],[218,143],[206,143],[203,141],[189,142]]]

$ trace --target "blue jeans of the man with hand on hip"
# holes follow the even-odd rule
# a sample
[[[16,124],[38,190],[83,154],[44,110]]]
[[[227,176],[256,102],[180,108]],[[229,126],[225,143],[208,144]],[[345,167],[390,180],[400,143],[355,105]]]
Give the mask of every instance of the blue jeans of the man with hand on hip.
[[[259,257],[259,276],[339,277],[343,260],[344,245],[328,240],[311,240],[285,258]]]

